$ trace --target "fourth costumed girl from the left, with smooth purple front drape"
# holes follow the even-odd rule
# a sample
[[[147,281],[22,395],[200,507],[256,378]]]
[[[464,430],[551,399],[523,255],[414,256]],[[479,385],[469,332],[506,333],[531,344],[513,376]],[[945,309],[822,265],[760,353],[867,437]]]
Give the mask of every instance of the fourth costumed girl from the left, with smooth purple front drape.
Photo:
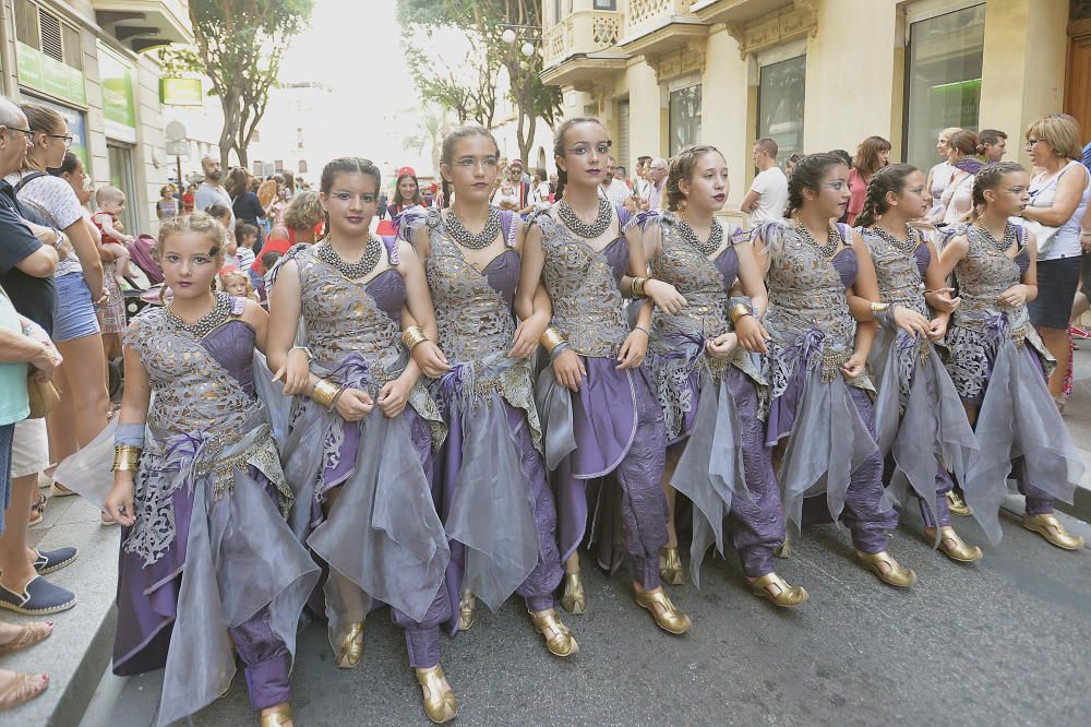
[[[538,286],[544,284],[552,324],[542,344],[552,362],[540,376],[537,398],[546,462],[555,470],[565,561],[561,605],[576,613],[586,608],[578,555],[588,521],[586,485],[613,475],[620,488],[624,548],[636,576],[636,603],[661,629],[684,633],[690,619],[663,593],[659,576],[659,549],[667,543],[667,500],[659,487],[667,438],[662,409],[640,366],[651,300],[642,306],[637,326],[630,331],[621,291],[635,288],[639,295],[643,289],[673,312],[685,300],[672,286],[645,277],[638,230],[623,236],[622,213],[600,202],[598,189],[610,154],[602,124],[597,119],[565,121],[558,129],[553,154],[564,198],[528,226],[516,312],[529,319]],[[626,269],[636,277],[625,275]],[[609,547],[612,533],[599,538]],[[616,561],[609,560],[614,567]]]

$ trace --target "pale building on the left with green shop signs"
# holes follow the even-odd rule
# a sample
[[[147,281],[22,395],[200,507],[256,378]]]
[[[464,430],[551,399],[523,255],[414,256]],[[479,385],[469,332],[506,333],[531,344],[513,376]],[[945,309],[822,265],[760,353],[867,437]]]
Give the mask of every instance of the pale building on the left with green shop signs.
[[[173,170],[153,49],[192,40],[185,0],[0,0],[4,95],[64,117],[95,186],[125,192],[131,233],[156,229]]]

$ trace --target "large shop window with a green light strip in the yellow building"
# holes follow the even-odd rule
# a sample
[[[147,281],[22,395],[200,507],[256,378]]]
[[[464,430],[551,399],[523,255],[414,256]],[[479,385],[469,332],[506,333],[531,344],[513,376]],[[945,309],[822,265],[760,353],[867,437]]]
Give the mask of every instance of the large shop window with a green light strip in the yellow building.
[[[985,5],[911,23],[906,53],[906,159],[924,169],[948,127],[978,128]]]

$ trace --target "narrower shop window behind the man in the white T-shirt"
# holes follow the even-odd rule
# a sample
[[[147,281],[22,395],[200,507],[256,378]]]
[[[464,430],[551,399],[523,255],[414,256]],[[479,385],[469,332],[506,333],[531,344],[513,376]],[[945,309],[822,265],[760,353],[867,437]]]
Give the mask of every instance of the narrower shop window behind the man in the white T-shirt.
[[[806,56],[762,65],[758,75],[757,134],[777,142],[783,164],[803,152],[803,109],[806,102]]]

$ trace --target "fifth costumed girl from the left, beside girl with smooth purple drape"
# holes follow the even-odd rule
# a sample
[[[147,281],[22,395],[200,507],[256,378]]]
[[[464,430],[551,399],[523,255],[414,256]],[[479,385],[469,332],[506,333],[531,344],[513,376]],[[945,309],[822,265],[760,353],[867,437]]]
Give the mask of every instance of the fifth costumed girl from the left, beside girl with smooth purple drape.
[[[767,353],[759,319],[768,298],[750,245],[733,242],[715,219],[728,182],[728,164],[715,146],[683,150],[668,169],[668,211],[639,217],[652,276],[686,299],[678,313],[657,309],[652,317],[649,357],[669,443],[663,481],[694,504],[694,583],[710,545],[723,555],[727,521],[753,593],[792,607],[807,592],[772,567],[784,517],[758,416],[758,391],[768,386],[751,355]],[[745,297],[731,297],[736,285]]]

